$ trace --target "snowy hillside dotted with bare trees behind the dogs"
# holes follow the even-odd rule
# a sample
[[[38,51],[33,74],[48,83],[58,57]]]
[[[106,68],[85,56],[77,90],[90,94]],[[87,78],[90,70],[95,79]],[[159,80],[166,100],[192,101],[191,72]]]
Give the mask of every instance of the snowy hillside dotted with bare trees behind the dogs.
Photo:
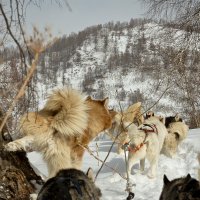
[[[141,101],[144,111],[152,108],[159,114],[180,113],[191,127],[199,127],[200,54],[190,51],[192,43],[189,50],[182,49],[182,33],[174,26],[131,19],[64,35],[41,54],[25,95],[29,99],[16,105],[13,117],[17,121],[27,110],[40,109],[52,89],[69,86],[95,99],[109,97],[109,106],[118,111]],[[0,66],[5,112],[10,104],[8,95],[13,98],[22,80],[20,64],[11,52]]]

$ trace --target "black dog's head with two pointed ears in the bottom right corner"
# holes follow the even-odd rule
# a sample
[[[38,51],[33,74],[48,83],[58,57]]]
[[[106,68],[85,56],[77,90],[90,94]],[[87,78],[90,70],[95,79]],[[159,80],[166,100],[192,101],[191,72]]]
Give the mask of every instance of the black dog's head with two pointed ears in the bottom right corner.
[[[172,181],[164,175],[163,183],[160,200],[200,200],[200,183],[190,174]]]

